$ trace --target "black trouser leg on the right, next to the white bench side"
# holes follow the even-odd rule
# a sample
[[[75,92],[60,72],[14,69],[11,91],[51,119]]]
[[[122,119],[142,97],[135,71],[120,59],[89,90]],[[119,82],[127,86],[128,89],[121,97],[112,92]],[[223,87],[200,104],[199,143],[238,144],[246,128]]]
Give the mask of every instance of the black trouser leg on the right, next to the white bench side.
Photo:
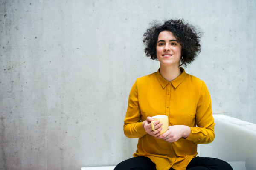
[[[189,162],[186,170],[233,170],[233,168],[217,158],[195,157]]]

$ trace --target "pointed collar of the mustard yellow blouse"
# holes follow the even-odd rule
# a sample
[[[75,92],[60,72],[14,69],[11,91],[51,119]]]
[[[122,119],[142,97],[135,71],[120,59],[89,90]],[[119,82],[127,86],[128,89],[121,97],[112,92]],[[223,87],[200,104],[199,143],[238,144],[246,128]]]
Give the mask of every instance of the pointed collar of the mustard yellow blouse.
[[[174,86],[174,88],[176,89],[177,86],[179,86],[181,84],[181,82],[183,80],[185,80],[186,78],[186,72],[185,70],[180,67],[180,71],[182,72],[179,77],[175,78],[175,80],[171,81],[172,85]],[[163,76],[160,74],[160,69],[158,69],[157,71],[157,80],[159,81],[159,83],[161,84],[161,86],[163,88],[166,87],[166,85],[169,83],[169,81],[167,81],[166,79],[163,78]]]

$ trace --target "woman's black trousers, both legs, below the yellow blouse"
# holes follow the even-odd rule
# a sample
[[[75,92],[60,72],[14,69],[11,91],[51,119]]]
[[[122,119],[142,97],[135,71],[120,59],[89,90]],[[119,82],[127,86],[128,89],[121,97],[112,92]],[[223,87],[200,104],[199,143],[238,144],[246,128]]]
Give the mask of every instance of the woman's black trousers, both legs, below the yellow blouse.
[[[156,165],[145,156],[137,156],[119,163],[114,170],[156,170]],[[174,170],[170,168],[169,170]],[[186,170],[233,170],[225,161],[216,158],[195,157]]]

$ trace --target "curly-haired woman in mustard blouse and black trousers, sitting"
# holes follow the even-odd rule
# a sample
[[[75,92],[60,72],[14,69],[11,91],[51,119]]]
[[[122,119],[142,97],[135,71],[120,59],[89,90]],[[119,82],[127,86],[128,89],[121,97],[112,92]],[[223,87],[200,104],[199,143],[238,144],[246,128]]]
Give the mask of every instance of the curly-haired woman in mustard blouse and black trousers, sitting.
[[[211,98],[204,81],[180,66],[191,63],[201,50],[200,33],[183,20],[167,20],[147,29],[145,53],[160,62],[160,69],[134,83],[124,120],[128,138],[139,138],[134,158],[115,170],[232,170],[225,161],[196,157],[197,144],[213,141]],[[154,115],[167,115],[168,130]],[[196,127],[197,126],[197,127]]]

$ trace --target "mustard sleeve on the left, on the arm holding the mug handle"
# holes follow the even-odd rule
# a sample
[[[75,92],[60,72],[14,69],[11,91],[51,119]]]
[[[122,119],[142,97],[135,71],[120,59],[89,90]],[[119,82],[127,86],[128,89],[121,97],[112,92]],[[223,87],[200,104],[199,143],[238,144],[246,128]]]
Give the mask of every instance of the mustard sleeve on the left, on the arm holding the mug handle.
[[[128,108],[124,120],[124,133],[128,138],[141,138],[147,134],[141,122],[137,81],[132,86],[129,95]]]

